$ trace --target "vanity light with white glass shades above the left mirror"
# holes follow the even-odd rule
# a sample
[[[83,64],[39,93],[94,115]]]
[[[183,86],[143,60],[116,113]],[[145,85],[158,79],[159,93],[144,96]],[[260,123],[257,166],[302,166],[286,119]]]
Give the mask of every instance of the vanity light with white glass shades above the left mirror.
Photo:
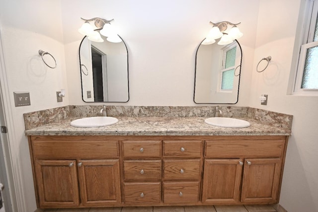
[[[100,36],[100,35],[103,35],[107,37],[106,40],[112,43],[119,43],[122,41],[120,37],[117,35],[117,32],[114,29],[114,26],[110,24],[110,22],[113,21],[114,19],[106,20],[99,17],[95,17],[91,19],[84,19],[84,18],[81,18],[81,19],[84,20],[85,22],[79,28],[79,33],[87,36],[89,40],[94,42],[104,42],[104,40]],[[98,31],[94,30],[94,27],[90,24],[89,21],[94,21],[94,25],[95,27],[97,27],[96,29],[100,29],[99,31],[100,34],[98,33]]]

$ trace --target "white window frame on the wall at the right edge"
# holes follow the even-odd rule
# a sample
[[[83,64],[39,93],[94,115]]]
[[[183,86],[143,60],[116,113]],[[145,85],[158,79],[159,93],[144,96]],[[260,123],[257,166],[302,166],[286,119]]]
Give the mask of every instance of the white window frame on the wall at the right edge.
[[[297,72],[294,79],[293,95],[318,96],[318,89],[302,89],[302,80],[307,55],[307,49],[318,46],[318,41],[314,40],[315,26],[318,15],[318,0],[308,0],[304,18],[303,39],[297,62]]]

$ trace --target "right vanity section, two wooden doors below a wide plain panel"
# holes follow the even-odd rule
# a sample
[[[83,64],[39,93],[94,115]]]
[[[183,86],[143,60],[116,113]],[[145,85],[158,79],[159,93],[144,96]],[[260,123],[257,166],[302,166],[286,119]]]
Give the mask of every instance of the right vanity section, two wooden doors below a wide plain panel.
[[[216,136],[206,140],[202,202],[278,202],[286,136]]]

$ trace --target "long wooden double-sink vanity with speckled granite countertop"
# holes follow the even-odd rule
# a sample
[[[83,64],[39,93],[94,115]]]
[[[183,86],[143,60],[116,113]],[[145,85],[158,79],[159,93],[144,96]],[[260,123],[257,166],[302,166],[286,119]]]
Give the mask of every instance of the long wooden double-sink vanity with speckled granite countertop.
[[[223,128],[202,117],[75,119],[27,129],[38,208],[275,204],[290,129],[248,119]]]

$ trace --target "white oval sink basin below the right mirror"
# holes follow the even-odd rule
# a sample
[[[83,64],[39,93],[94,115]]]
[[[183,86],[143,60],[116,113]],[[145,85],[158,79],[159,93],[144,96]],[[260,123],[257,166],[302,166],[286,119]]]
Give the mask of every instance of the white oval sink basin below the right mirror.
[[[228,117],[211,117],[211,118],[205,119],[204,122],[214,126],[232,127],[232,128],[243,128],[243,127],[250,126],[250,123],[248,121],[237,119],[237,118],[228,118]]]

